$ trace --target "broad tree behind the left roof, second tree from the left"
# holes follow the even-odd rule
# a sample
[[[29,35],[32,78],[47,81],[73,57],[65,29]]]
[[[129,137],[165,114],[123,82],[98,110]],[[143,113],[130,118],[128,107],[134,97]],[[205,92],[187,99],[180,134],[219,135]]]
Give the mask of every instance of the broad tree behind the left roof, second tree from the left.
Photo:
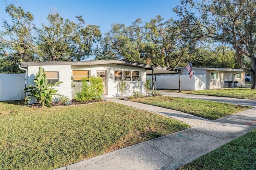
[[[82,16],[76,18],[78,23],[64,20],[53,11],[47,17],[48,25],[42,23],[38,45],[44,61],[81,60],[92,55],[93,43],[101,37],[99,27],[84,26]]]

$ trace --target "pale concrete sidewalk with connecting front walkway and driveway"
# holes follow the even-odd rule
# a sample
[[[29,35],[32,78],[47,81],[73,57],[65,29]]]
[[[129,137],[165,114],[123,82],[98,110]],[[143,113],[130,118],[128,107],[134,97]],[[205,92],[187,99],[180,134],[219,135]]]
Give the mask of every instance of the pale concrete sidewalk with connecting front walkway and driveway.
[[[170,92],[163,95],[182,97]],[[109,98],[109,101],[150,110],[178,119],[193,127],[64,166],[58,170],[174,170],[256,128],[254,101],[185,95],[188,98],[221,100],[225,103],[242,103],[243,105],[246,105],[247,101],[248,105],[254,108],[215,121],[208,121],[171,109]]]

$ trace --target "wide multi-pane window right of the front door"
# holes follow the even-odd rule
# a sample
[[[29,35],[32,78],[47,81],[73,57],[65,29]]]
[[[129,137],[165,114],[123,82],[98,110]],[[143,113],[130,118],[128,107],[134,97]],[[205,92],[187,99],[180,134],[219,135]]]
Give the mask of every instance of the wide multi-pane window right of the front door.
[[[115,81],[138,81],[139,71],[115,71]]]

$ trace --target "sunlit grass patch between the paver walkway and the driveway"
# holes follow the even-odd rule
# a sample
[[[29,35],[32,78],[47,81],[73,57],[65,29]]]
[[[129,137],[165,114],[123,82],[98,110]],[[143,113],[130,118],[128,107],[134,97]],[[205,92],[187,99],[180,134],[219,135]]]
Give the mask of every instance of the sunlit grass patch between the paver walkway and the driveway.
[[[210,120],[219,119],[252,108],[229,103],[178,97],[144,97],[131,99],[131,101],[182,111]]]

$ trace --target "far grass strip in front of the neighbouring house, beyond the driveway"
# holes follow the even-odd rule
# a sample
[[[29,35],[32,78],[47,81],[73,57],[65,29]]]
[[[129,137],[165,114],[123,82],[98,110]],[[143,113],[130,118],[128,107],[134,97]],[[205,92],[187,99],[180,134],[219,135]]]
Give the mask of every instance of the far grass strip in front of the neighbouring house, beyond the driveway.
[[[174,92],[178,92],[178,90],[175,90]],[[196,91],[182,90],[181,93],[256,100],[256,90],[242,87],[232,89],[209,89]]]

